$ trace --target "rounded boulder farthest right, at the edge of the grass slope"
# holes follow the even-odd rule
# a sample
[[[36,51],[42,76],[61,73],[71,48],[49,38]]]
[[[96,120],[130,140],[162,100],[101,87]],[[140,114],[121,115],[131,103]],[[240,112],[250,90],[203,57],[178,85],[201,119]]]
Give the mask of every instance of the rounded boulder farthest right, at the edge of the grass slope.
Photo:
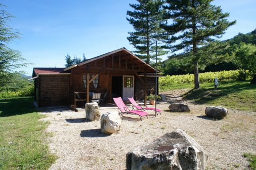
[[[215,119],[227,116],[228,110],[222,106],[210,106],[205,108],[205,115]]]

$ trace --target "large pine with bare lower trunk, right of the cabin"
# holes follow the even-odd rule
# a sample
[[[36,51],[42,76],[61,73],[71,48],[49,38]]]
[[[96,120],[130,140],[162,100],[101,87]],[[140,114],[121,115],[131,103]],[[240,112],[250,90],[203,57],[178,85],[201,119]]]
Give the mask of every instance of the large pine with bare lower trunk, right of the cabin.
[[[194,67],[195,88],[199,86],[198,61],[207,50],[198,51],[198,47],[207,45],[208,49],[220,50],[223,45],[217,41],[225,30],[236,23],[229,22],[226,18],[229,13],[222,13],[220,6],[211,4],[213,0],[167,0],[164,8],[167,10],[165,19],[171,19],[172,23],[162,24],[170,37],[167,40],[169,48],[174,51],[192,51]],[[213,45],[210,45],[213,44]],[[205,58],[206,59],[206,58]]]

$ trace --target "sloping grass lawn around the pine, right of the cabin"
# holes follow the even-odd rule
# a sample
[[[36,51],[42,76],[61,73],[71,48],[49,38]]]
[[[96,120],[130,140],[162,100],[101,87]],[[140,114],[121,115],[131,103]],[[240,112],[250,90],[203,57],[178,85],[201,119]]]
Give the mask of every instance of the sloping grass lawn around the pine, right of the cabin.
[[[256,85],[249,81],[220,82],[218,90],[213,83],[201,84],[200,89],[192,89],[194,84],[160,87],[162,91],[191,88],[183,97],[201,104],[221,105],[237,110],[256,111]]]

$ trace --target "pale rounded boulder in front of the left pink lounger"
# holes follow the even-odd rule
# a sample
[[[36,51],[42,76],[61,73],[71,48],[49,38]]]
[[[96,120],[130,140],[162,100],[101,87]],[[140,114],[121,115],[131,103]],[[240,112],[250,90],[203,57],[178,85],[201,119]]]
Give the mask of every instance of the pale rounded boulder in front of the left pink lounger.
[[[117,111],[107,112],[101,117],[101,132],[104,134],[112,134],[120,129],[121,118]]]

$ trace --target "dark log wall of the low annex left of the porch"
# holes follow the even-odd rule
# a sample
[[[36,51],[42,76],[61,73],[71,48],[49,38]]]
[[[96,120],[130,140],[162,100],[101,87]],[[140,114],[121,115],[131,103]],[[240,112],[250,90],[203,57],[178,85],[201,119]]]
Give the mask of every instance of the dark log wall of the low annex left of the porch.
[[[67,106],[69,75],[40,75],[38,77],[38,106]]]

